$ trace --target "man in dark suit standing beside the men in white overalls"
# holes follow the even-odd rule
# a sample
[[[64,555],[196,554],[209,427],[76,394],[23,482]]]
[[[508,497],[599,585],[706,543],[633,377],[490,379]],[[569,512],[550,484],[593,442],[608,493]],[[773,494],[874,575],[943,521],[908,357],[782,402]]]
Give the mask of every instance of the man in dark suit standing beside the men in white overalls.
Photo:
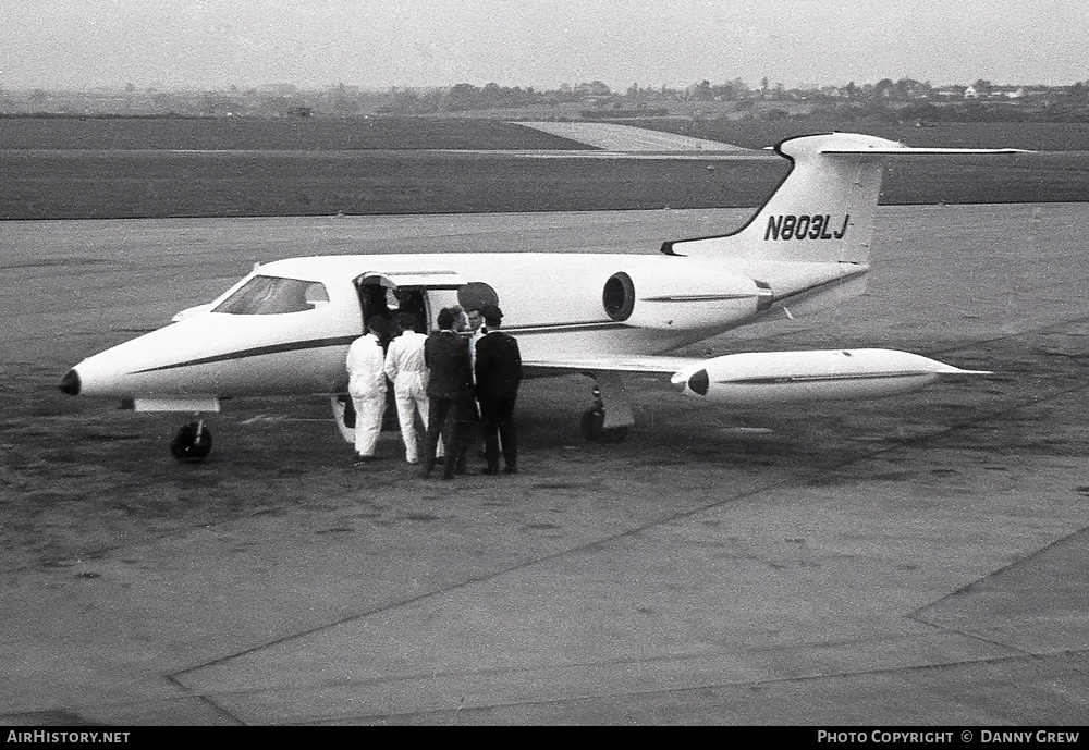
[[[439,330],[432,331],[424,342],[424,361],[429,371],[427,444],[421,472],[425,479],[431,476],[435,468],[439,435],[448,419],[453,423],[446,442],[442,478],[454,478],[455,464],[464,452],[465,428],[476,411],[468,343],[454,331],[458,315],[460,311],[453,308],[441,309],[436,321]]]

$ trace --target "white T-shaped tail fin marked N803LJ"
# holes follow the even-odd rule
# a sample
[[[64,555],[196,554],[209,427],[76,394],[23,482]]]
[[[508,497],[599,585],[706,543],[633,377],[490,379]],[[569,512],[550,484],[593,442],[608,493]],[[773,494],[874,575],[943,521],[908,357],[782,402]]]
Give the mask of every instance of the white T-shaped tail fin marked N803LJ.
[[[774,150],[793,167],[748,223],[731,234],[666,242],[662,253],[866,263],[886,157],[1019,152],[1010,148],[909,148],[855,133],[788,138]]]

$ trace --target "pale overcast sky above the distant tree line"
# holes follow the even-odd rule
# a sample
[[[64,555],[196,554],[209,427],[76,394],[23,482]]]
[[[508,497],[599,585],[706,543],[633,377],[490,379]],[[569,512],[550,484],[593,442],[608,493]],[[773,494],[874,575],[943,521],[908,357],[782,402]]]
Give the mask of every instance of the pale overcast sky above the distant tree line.
[[[0,87],[1089,79],[1085,0],[0,0]]]

